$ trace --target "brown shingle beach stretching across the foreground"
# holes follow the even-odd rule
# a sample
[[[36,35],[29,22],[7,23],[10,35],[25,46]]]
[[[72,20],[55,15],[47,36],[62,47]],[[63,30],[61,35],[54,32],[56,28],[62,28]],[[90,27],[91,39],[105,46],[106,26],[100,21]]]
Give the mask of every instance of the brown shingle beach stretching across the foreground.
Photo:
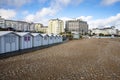
[[[120,39],[73,40],[1,59],[0,80],[120,80]]]

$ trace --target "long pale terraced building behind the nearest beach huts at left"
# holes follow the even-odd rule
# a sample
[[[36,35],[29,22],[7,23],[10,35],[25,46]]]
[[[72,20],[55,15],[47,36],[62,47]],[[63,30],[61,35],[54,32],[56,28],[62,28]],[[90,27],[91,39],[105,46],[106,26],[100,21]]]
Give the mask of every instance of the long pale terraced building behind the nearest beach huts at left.
[[[0,17],[1,28],[13,28],[17,31],[35,31],[35,24],[25,21],[7,20]]]

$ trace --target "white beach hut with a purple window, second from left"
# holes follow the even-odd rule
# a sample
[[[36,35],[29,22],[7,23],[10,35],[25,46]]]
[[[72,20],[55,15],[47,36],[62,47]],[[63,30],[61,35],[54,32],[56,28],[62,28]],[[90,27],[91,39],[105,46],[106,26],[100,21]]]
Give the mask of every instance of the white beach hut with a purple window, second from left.
[[[19,48],[32,48],[32,35],[29,32],[15,32],[19,36]]]

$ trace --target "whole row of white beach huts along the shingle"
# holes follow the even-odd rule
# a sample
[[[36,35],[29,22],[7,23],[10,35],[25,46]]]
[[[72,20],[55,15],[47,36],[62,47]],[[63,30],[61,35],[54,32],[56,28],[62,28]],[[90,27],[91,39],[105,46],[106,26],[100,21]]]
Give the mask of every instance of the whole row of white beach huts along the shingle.
[[[62,36],[54,34],[0,31],[0,54],[52,45],[62,41]]]

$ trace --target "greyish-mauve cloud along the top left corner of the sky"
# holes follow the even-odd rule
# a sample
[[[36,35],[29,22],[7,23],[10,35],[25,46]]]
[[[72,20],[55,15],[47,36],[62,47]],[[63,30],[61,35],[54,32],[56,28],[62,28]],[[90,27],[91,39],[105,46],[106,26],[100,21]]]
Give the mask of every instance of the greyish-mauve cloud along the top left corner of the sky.
[[[0,5],[21,7],[30,2],[31,0],[0,0]]]

